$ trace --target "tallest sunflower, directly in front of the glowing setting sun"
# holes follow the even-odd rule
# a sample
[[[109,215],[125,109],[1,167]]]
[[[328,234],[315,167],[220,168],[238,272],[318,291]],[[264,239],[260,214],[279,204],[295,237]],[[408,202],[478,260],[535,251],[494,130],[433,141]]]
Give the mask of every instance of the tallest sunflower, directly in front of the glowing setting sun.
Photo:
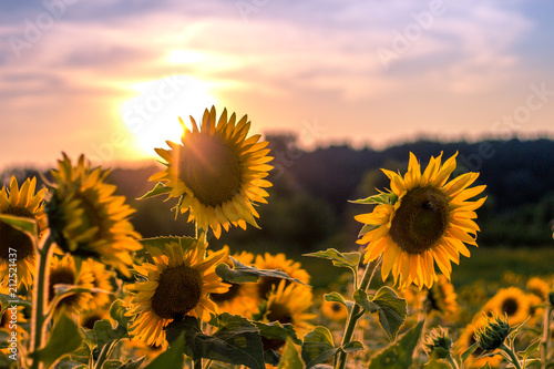
[[[202,117],[202,126],[191,116],[191,132],[179,117],[184,133],[181,144],[167,141],[170,150],[155,148],[166,161],[163,172],[148,181],[166,182],[170,197],[179,197],[177,208],[189,212],[188,222],[196,221],[198,227],[211,227],[217,238],[222,226],[246,228],[246,223],[257,227],[259,217],[254,202],[267,203],[268,193],[263,187],[271,183],[263,180],[273,166],[267,142],[258,142],[260,135],[246,139],[250,122],[243,116],[236,122],[233,113],[227,121],[227,110],[223,111],[216,125],[215,107],[207,109]]]

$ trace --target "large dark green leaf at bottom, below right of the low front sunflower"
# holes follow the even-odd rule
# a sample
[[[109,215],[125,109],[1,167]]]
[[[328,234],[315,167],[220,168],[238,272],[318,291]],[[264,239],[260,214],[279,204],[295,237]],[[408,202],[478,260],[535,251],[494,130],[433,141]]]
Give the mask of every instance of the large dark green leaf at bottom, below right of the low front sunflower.
[[[212,321],[218,329],[208,336],[194,317],[174,320],[166,328],[167,340],[171,342],[184,332],[184,352],[193,360],[205,358],[254,369],[265,368],[264,347],[256,326],[246,318],[229,314],[222,314]]]

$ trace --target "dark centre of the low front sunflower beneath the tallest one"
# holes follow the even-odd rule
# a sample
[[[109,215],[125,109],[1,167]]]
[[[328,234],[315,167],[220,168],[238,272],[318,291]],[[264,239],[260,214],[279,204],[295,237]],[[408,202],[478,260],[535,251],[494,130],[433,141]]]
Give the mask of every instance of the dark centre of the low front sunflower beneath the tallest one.
[[[201,294],[202,275],[198,270],[186,265],[167,268],[160,275],[152,309],[161,318],[173,319],[196,307]]]

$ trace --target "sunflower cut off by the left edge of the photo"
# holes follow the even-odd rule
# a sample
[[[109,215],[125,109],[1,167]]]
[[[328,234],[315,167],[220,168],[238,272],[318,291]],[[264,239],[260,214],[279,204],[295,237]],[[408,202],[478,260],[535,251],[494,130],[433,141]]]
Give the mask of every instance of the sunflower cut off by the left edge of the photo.
[[[37,178],[27,178],[18,186],[18,181],[14,176],[11,177],[10,188],[2,186],[0,191],[0,214],[23,216],[34,218],[38,225],[39,236],[47,229],[47,216],[44,213],[44,194],[45,189],[40,189],[37,194]],[[12,226],[0,221],[0,285],[8,284],[9,273],[8,263],[13,257],[10,257],[10,248],[16,249],[17,255],[17,288],[23,284],[29,287],[32,284],[34,274],[34,245],[24,233],[17,230]],[[10,263],[11,264],[11,263]]]

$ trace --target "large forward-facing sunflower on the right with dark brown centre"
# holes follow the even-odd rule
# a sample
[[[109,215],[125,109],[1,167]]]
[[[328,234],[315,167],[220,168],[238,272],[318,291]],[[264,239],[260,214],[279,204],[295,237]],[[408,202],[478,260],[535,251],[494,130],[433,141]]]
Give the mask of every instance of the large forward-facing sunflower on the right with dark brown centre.
[[[442,153],[431,156],[421,173],[416,155],[410,153],[408,172],[402,177],[382,170],[390,178],[390,193],[378,195],[380,204],[372,213],[355,218],[365,224],[360,245],[366,245],[365,263],[383,256],[381,276],[392,273],[394,284],[400,287],[413,283],[420,288],[431,288],[438,279],[434,263],[448,279],[451,262],[460,263],[460,254],[469,257],[464,244],[476,246],[479,226],[475,209],[486,197],[474,202],[468,199],[479,195],[485,186],[469,186],[479,173],[465,173],[448,182],[455,170],[455,156],[441,165]],[[387,201],[383,201],[387,198]]]

